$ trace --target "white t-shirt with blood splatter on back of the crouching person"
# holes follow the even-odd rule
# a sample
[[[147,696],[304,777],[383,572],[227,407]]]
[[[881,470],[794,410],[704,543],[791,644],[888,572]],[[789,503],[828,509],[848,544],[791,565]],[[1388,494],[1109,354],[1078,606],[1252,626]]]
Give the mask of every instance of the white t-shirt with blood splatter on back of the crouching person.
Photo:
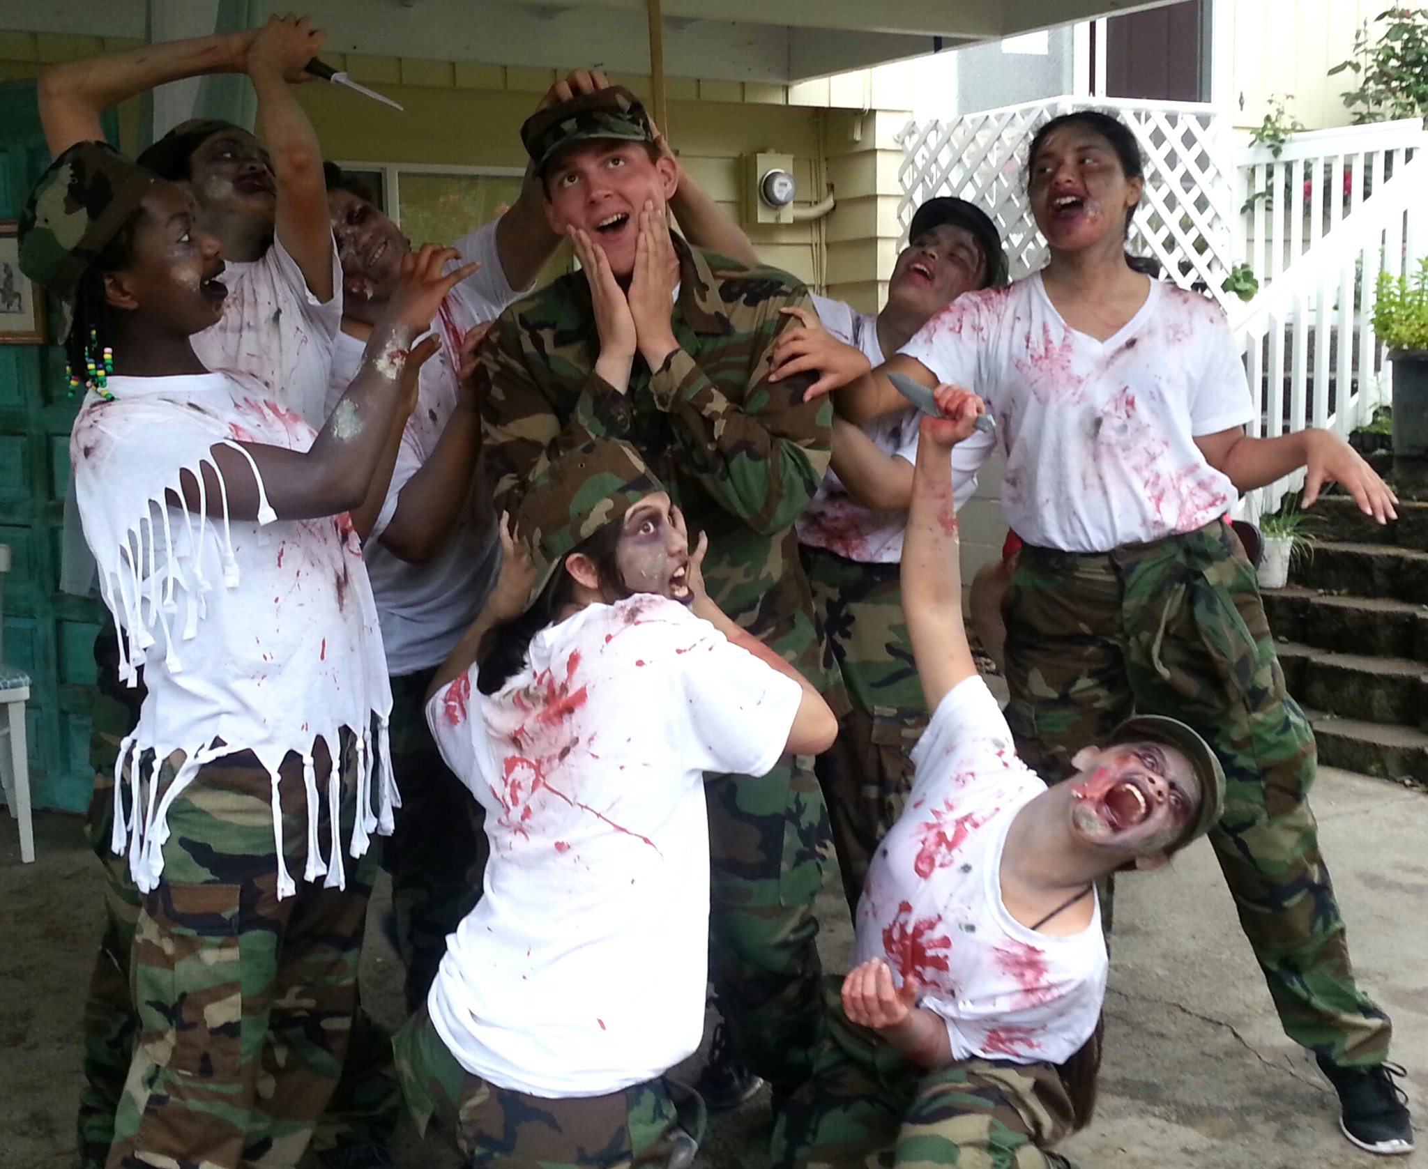
[[[431,1022],[501,1088],[600,1096],[653,1079],[704,1031],[704,772],[773,768],[801,689],[650,594],[543,629],[493,695],[474,674],[427,707],[491,842]]]

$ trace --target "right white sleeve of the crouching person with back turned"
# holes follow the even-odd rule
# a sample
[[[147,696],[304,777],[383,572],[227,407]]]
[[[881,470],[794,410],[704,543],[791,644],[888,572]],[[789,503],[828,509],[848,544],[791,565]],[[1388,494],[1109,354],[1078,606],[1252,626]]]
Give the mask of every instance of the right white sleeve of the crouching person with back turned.
[[[691,764],[708,772],[767,775],[788,744],[803,687],[703,618],[688,614],[688,628],[693,638],[665,659],[674,662],[671,698],[684,697]]]

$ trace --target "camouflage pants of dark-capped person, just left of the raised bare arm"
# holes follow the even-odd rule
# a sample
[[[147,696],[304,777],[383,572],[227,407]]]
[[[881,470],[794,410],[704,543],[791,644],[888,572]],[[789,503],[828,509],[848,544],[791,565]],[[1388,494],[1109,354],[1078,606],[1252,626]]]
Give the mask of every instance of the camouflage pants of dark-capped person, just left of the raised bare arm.
[[[902,621],[900,565],[800,551],[833,668],[853,704],[814,769],[828,801],[843,891],[857,912],[868,865],[912,786],[908,754],[927,728],[927,702]]]

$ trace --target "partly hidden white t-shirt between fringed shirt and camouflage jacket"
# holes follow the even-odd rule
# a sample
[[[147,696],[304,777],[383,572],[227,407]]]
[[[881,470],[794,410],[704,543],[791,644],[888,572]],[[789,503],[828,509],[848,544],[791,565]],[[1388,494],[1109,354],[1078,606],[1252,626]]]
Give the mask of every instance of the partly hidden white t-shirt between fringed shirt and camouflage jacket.
[[[416,674],[446,661],[461,634],[481,611],[486,595],[501,567],[501,547],[490,491],[478,475],[471,502],[463,511],[446,545],[426,564],[408,564],[381,544],[397,497],[407,481],[431,457],[457,400],[461,338],[467,330],[496,320],[520,293],[511,288],[496,248],[496,223],[458,240],[460,261],[481,267],[453,288],[437,314],[441,347],[421,367],[417,407],[407,420],[391,472],[391,487],[377,522],[367,538],[367,574],[377,597],[381,639],[387,647],[387,671],[393,677]],[[333,375],[327,391],[331,411],[357,375],[366,344],[346,333],[333,348]]]

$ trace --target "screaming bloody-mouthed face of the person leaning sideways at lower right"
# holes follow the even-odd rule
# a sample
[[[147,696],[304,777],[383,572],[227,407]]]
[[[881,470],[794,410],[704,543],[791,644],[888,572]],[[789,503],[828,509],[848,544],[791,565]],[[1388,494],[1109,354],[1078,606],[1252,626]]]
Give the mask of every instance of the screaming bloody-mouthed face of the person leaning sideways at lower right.
[[[1117,744],[1087,762],[1071,781],[1071,831],[1084,842],[1150,855],[1180,839],[1194,819],[1200,785],[1174,747]]]

